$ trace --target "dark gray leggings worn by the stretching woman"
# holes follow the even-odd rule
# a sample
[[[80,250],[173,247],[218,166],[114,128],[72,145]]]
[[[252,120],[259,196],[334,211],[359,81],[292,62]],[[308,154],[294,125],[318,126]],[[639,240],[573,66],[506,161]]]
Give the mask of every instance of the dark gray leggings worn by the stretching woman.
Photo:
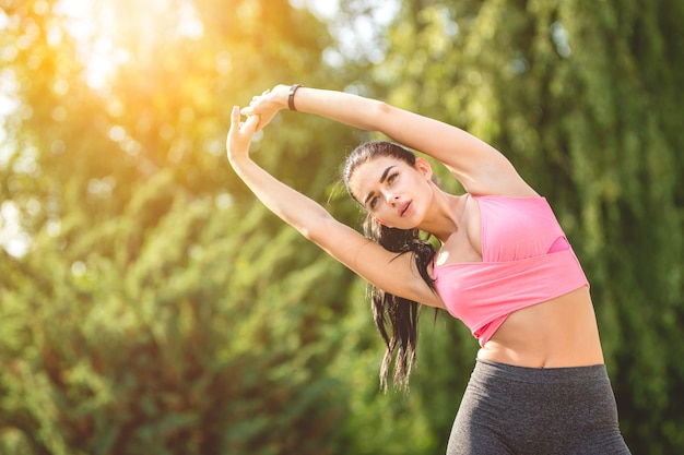
[[[477,360],[447,447],[447,455],[473,454],[629,454],[605,367]]]

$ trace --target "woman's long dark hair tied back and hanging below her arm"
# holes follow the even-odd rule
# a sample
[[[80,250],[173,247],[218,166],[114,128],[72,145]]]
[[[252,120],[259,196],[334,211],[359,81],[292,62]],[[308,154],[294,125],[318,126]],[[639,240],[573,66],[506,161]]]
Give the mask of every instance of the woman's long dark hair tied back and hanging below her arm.
[[[415,166],[416,163],[415,154],[390,142],[367,142],[359,145],[346,158],[342,173],[346,190],[355,201],[358,201],[358,197],[350,189],[350,178],[358,166],[381,156],[393,157],[411,166]],[[364,221],[364,234],[387,250],[398,253],[397,258],[405,253],[413,254],[421,276],[435,291],[434,280],[427,272],[436,254],[429,237],[422,238],[418,229],[384,226],[370,214]],[[396,352],[393,384],[397,388],[408,391],[411,371],[416,363],[418,303],[385,292],[373,285],[369,285],[369,295],[375,325],[387,346],[380,367],[380,387],[387,391],[387,378]]]

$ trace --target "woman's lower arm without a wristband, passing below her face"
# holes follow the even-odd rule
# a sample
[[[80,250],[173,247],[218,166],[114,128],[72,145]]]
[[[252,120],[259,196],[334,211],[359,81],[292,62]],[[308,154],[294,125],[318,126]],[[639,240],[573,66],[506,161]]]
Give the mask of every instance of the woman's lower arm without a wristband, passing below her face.
[[[335,220],[320,204],[275,179],[249,157],[251,137],[263,123],[258,115],[240,122],[240,110],[235,107],[226,141],[231,165],[255,195],[285,223],[377,287],[441,307],[441,300],[421,278],[411,254],[397,258],[397,253]]]

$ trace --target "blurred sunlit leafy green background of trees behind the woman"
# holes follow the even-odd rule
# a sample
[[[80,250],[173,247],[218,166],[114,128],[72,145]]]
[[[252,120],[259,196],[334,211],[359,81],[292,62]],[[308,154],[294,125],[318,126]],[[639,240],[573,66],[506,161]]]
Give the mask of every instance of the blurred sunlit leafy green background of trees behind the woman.
[[[226,163],[232,106],[293,82],[509,156],[590,277],[632,451],[681,453],[683,22],[662,0],[0,0],[0,453],[444,453],[476,343],[425,312],[411,394],[379,393],[364,283]],[[283,112],[255,156],[357,226],[339,169],[370,137]]]

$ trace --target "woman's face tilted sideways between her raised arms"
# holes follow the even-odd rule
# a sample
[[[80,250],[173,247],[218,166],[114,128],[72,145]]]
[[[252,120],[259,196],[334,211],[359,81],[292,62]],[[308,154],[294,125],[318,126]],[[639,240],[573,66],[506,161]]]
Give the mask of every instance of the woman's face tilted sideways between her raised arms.
[[[359,165],[349,185],[357,202],[386,226],[412,229],[432,202],[432,168],[423,158],[415,166],[389,156]]]

